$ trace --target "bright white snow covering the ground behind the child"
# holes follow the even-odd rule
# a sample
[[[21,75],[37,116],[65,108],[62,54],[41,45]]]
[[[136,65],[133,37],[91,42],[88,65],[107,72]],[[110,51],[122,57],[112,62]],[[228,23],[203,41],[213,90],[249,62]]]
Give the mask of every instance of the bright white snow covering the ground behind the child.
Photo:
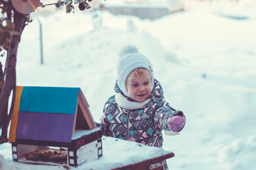
[[[152,62],[166,101],[187,118],[180,135],[163,136],[163,149],[175,153],[169,168],[255,170],[256,13],[202,7],[155,20],[107,11],[97,11],[99,18],[79,11],[40,16],[43,65],[33,14],[18,49],[17,85],[80,87],[99,122],[114,94],[119,49],[136,45]],[[13,162],[10,144],[0,145],[0,162],[4,170],[64,169]]]

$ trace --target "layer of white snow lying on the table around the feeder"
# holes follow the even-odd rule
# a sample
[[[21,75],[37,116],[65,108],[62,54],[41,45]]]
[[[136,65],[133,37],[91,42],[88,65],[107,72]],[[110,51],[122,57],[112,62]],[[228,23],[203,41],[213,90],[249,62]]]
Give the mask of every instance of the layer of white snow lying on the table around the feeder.
[[[162,155],[170,154],[170,151],[165,151],[161,148],[150,147],[146,145],[139,145],[136,142],[124,141],[122,139],[110,138],[103,136],[102,147],[103,156],[95,161],[87,162],[77,168],[71,167],[71,169],[102,169],[109,170],[118,168],[120,166],[126,166],[137,162],[142,162],[147,159],[152,159]],[[4,144],[2,151],[10,152],[10,146]],[[143,155],[140,153],[143,152]],[[1,152],[2,153],[2,152]],[[2,162],[2,169],[64,169],[63,166],[49,166],[49,165],[31,165],[22,164],[20,162],[12,162],[12,156],[8,155],[8,161],[4,156],[0,155],[0,162]],[[1,165],[1,164],[0,164]]]

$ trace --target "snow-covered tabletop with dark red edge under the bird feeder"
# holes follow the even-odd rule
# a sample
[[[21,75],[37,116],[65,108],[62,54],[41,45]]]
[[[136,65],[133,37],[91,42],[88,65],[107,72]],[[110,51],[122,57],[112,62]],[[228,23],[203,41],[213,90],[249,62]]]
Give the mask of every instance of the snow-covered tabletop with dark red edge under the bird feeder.
[[[103,156],[92,162],[87,162],[81,166],[54,166],[54,165],[34,165],[12,161],[12,149],[10,143],[0,145],[0,169],[19,170],[120,170],[120,169],[149,169],[149,165],[162,162],[172,158],[174,154],[162,148],[142,145],[136,142],[123,141],[122,139],[102,136]],[[146,168],[145,166],[146,165]],[[153,169],[155,170],[155,169]]]

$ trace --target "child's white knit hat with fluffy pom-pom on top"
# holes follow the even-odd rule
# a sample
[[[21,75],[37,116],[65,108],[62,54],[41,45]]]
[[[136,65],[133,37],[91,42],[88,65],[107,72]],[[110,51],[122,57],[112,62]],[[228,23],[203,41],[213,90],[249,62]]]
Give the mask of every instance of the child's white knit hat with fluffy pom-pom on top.
[[[145,68],[150,72],[152,77],[152,89],[154,85],[153,66],[145,55],[138,52],[135,46],[124,46],[120,52],[119,60],[117,61],[117,85],[124,95],[129,96],[126,89],[127,76],[136,68]]]

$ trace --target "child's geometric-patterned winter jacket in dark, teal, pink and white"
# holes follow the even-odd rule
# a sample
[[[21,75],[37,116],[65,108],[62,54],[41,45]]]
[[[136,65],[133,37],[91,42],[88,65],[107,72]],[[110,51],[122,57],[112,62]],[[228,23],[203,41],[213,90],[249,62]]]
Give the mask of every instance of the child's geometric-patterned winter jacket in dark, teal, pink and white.
[[[124,96],[117,84],[115,91]],[[124,96],[128,101],[132,98]],[[170,131],[167,121],[178,111],[173,109],[163,96],[163,89],[155,79],[150,101],[144,108],[126,109],[119,106],[116,96],[111,96],[104,105],[101,116],[101,129],[103,135],[126,141],[136,141],[148,146],[162,147],[162,130]],[[183,127],[179,129],[182,130]]]

